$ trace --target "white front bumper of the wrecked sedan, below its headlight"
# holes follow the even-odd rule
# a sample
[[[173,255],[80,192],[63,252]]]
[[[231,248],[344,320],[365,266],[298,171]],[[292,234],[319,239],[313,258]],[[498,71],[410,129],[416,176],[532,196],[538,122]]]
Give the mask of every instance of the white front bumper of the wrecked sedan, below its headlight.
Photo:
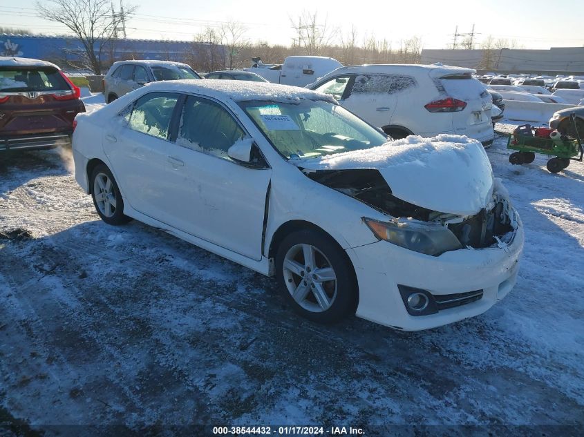
[[[438,257],[385,241],[348,249],[359,283],[357,316],[404,331],[418,331],[484,313],[514,287],[522,249],[520,222],[514,240],[505,249],[460,249]],[[483,295],[459,307],[414,316],[406,310],[397,284],[432,295],[477,290]]]

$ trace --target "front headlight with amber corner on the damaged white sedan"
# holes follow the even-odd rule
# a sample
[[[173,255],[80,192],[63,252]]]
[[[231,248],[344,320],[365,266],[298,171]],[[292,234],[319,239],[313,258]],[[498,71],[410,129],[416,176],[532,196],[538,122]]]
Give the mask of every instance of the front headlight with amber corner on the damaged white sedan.
[[[441,224],[378,222],[369,218],[364,220],[379,240],[411,251],[438,256],[446,251],[462,249],[458,238]]]

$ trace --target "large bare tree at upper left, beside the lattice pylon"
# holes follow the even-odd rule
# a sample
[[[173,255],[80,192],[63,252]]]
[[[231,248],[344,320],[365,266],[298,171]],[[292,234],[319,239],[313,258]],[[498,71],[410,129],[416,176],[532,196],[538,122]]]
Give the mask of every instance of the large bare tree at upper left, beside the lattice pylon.
[[[36,6],[40,17],[64,24],[79,38],[86,66],[96,75],[102,74],[102,55],[117,36],[120,23],[125,23],[137,8],[126,6],[114,14],[109,0],[46,0]]]

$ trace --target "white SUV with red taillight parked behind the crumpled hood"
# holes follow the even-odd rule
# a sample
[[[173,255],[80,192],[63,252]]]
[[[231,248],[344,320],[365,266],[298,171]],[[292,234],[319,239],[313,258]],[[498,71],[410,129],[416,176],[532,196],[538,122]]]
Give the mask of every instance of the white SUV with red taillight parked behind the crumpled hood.
[[[467,135],[493,142],[491,96],[475,70],[440,65],[365,65],[337,68],[308,88],[391,137]]]

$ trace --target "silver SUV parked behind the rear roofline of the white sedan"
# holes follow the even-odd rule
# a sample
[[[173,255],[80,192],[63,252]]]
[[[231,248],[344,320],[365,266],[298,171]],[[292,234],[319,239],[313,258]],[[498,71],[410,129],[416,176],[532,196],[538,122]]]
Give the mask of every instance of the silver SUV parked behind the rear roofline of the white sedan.
[[[171,61],[118,61],[104,77],[104,96],[111,103],[117,97],[149,82],[178,79],[201,79],[187,64]]]

